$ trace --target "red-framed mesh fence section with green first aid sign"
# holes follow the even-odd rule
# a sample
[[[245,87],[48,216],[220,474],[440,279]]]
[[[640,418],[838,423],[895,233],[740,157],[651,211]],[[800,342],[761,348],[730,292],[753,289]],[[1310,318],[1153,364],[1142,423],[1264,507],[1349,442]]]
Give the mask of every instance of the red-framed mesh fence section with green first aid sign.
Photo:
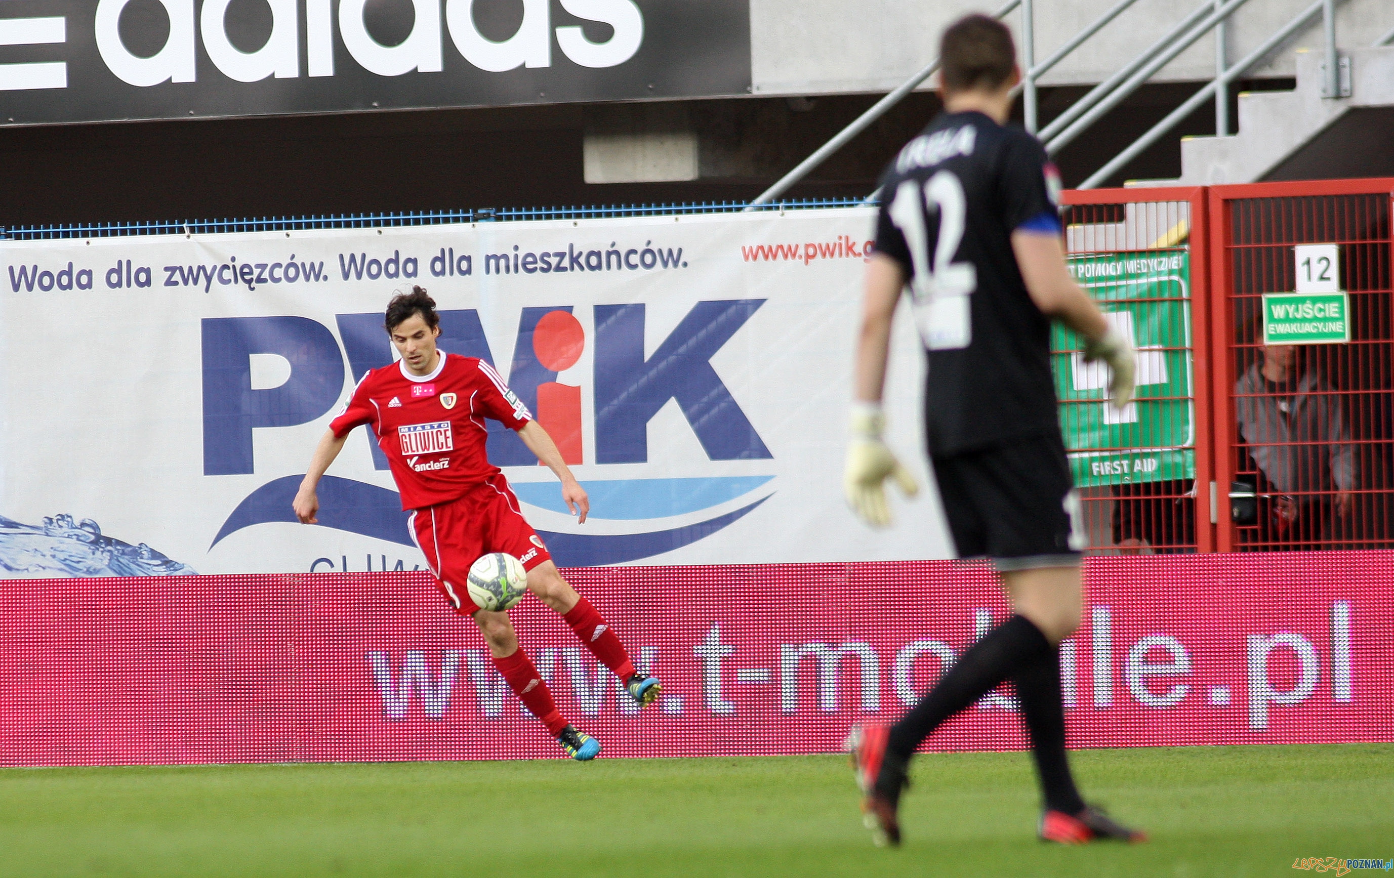
[[[1202,187],[1066,191],[1072,272],[1139,347],[1138,403],[1115,413],[1062,329],[1052,360],[1089,548],[1213,552],[1209,205]],[[1160,268],[1158,268],[1160,266]],[[1083,380],[1080,380],[1083,378]]]

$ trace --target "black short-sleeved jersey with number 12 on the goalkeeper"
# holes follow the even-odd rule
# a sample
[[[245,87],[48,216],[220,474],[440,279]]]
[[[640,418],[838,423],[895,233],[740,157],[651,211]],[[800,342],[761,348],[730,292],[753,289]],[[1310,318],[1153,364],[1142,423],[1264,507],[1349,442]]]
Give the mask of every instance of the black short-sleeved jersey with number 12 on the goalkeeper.
[[[1058,234],[1058,180],[1040,141],[977,111],[941,114],[881,178],[875,248],[910,277],[933,456],[1059,432],[1050,319],[1011,240]]]

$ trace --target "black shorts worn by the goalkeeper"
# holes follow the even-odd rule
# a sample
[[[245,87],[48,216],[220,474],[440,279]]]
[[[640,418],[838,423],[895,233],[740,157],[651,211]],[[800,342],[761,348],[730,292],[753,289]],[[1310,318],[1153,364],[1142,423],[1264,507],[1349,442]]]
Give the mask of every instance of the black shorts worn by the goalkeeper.
[[[1079,498],[1058,433],[931,463],[959,557],[991,557],[998,570],[1079,563]]]

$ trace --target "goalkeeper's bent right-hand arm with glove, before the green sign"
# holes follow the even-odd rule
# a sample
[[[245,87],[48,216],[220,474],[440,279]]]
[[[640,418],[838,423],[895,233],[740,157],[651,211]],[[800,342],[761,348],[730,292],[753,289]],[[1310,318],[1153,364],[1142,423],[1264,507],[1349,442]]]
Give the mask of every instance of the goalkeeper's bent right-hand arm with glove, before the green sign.
[[[1062,321],[1085,337],[1085,360],[1103,360],[1112,369],[1108,399],[1115,408],[1126,406],[1132,400],[1136,369],[1132,340],[1114,332],[1094,300],[1071,277],[1059,236],[1018,230],[1012,233],[1012,249],[1032,301],[1041,314]]]

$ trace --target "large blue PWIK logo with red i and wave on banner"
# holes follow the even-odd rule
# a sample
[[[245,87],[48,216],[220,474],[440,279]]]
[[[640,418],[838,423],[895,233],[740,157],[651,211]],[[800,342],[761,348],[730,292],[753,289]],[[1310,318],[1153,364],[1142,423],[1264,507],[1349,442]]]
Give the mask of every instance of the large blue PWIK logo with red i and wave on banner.
[[[654,460],[648,424],[669,403],[677,406],[708,461],[772,459],[711,365],[711,358],[763,304],[700,301],[657,346],[645,344],[643,304],[594,305],[594,339],[585,337],[570,305],[521,309],[509,387],[537,414],[569,465],[592,464],[598,472],[615,465],[613,477],[583,482],[591,496],[590,520],[599,532],[548,531],[534,520],[558,563],[611,564],[671,552],[730,525],[769,498],[774,475],[633,478],[627,477],[633,467],[623,465]],[[255,429],[305,424],[333,408],[348,378],[344,355],[354,380],[392,362],[381,314],[340,314],[336,323],[342,348],[328,326],[301,316],[202,322],[205,475],[254,472]],[[477,311],[442,311],[441,329],[442,351],[495,365]],[[652,353],[645,355],[645,347]],[[583,411],[583,389],[558,380],[587,353],[592,357],[594,382],[590,413]],[[254,354],[284,357],[291,365],[290,378],[279,387],[252,390]],[[592,449],[583,439],[587,417],[594,428]],[[420,432],[421,447],[413,446],[410,453],[436,450],[439,436],[428,429]],[[386,470],[386,456],[376,442],[368,446],[375,468]],[[492,421],[488,452],[499,467],[537,464],[513,431]],[[248,495],[223,523],[213,545],[245,527],[294,521],[291,500],[301,478],[276,478]],[[538,510],[566,514],[555,479],[510,482],[533,509],[524,509],[530,517],[546,518]],[[319,495],[321,525],[414,545],[396,491],[326,475]]]

